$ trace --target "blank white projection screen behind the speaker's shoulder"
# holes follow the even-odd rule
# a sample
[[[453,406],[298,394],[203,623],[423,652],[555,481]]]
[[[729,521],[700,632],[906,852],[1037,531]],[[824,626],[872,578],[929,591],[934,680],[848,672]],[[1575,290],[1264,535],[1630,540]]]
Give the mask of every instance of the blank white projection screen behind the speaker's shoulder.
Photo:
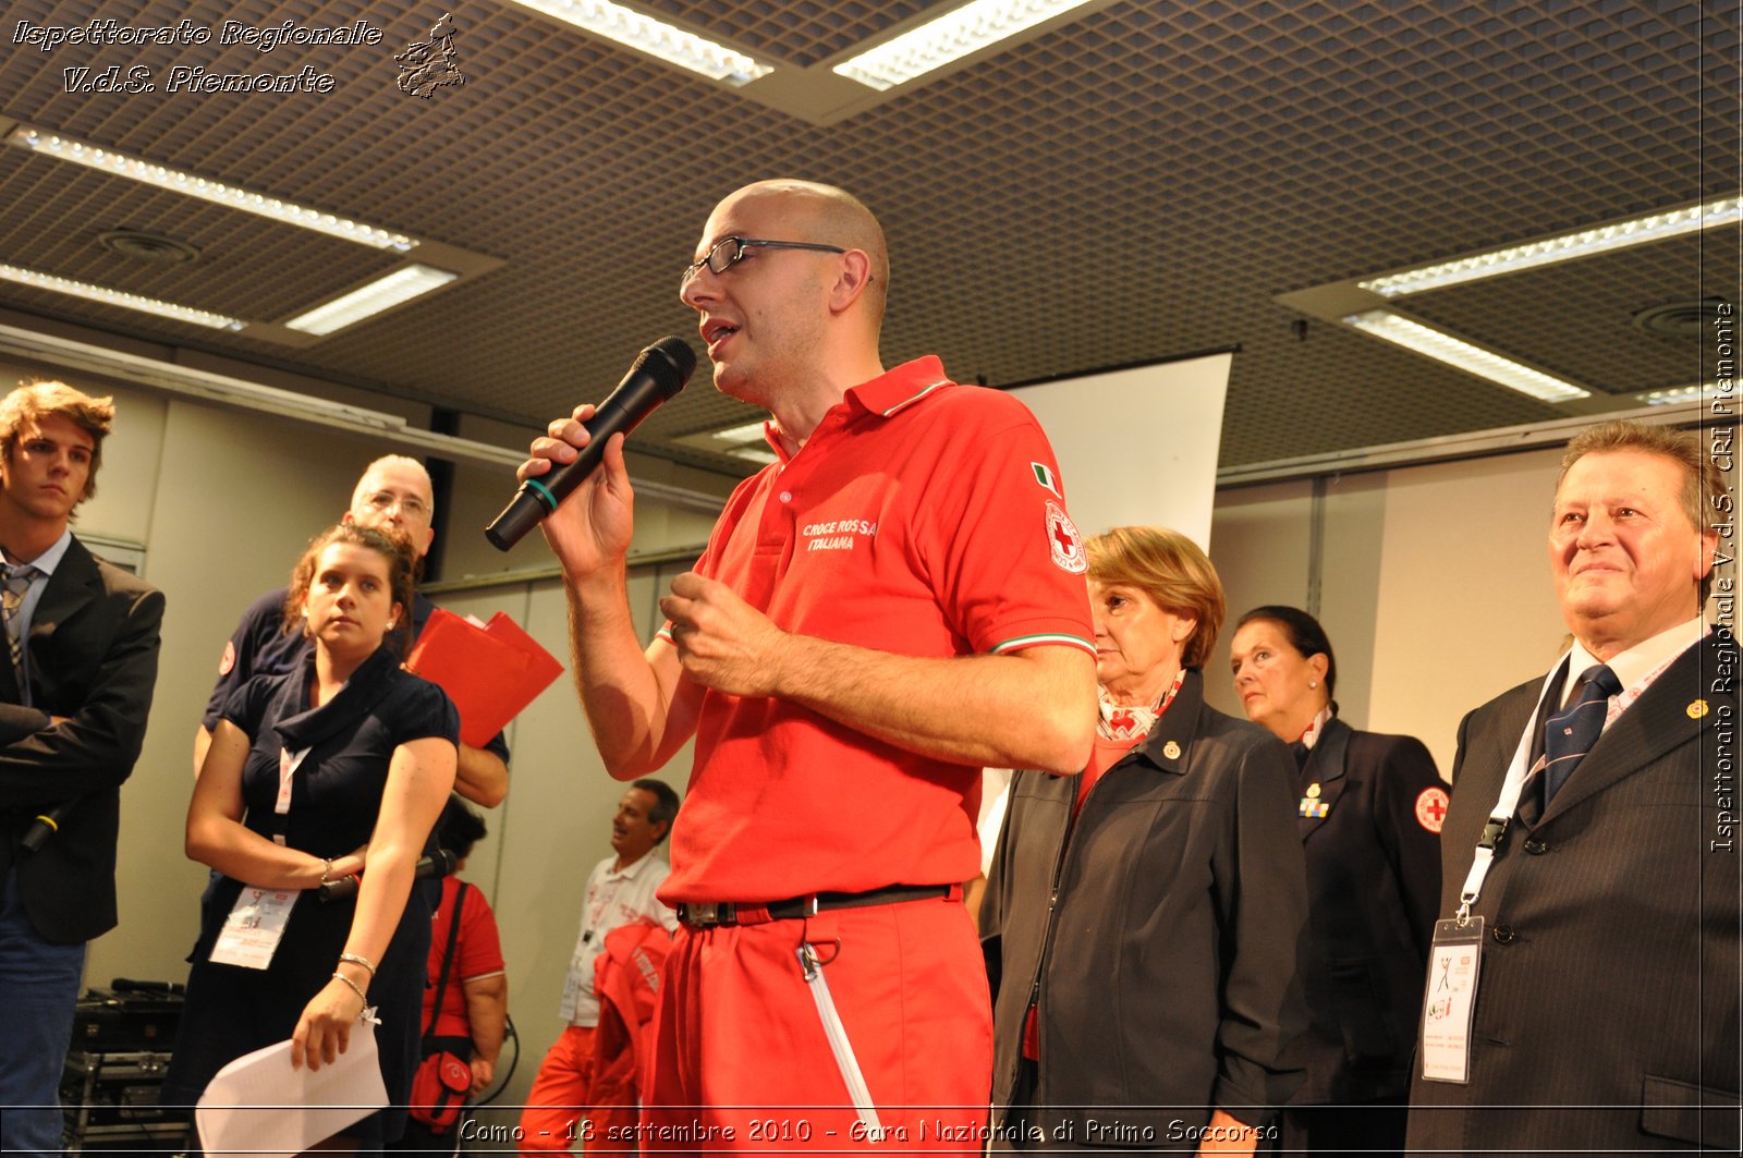
[[[1232,361],[1206,354],[1011,387],[1053,441],[1077,530],[1173,527],[1210,551]]]

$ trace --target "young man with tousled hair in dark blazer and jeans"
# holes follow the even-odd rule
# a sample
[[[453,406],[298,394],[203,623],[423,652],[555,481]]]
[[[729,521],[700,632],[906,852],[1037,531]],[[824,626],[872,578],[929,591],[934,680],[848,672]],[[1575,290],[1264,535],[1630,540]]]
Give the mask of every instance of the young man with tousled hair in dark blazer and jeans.
[[[85,942],[115,926],[120,783],[145,739],[164,596],[94,558],[73,509],[115,408],[59,382],[0,401],[0,1149],[59,1153]]]

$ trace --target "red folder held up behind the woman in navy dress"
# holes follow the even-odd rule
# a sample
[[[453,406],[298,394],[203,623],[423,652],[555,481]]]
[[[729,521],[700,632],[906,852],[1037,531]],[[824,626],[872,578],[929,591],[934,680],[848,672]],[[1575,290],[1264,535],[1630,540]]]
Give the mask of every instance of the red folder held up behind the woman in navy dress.
[[[563,664],[500,610],[483,628],[437,607],[406,668],[460,710],[460,741],[483,748],[563,675]]]

